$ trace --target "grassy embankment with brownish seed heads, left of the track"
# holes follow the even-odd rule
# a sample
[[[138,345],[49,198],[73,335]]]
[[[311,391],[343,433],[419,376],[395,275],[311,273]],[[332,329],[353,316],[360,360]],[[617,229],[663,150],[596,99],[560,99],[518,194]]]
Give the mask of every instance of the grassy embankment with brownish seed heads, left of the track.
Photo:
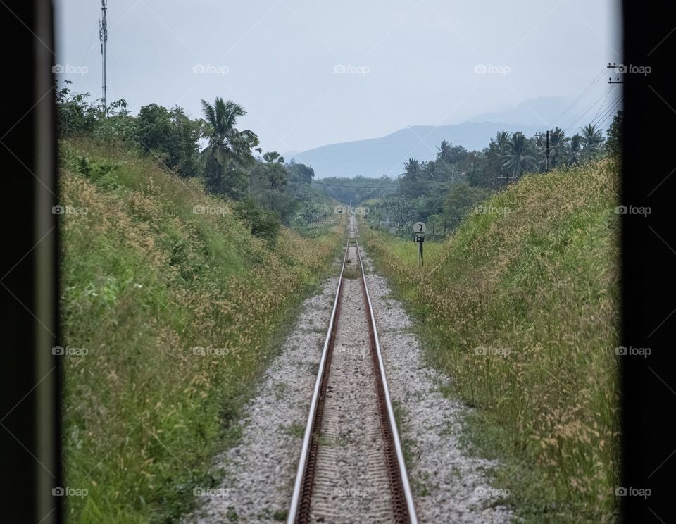
[[[128,151],[62,145],[63,434],[69,522],[167,522],[212,487],[216,452],[325,275],[338,228],[253,237],[229,204]],[[206,213],[195,213],[203,206]],[[220,214],[221,212],[225,214]],[[85,353],[81,356],[82,353]]]

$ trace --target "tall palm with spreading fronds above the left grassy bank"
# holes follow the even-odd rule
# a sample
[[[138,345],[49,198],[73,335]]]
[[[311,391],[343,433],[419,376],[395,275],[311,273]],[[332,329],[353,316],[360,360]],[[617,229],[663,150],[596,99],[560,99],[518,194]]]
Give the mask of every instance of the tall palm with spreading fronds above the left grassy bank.
[[[235,127],[237,118],[246,115],[239,104],[217,98],[213,105],[202,100],[202,108],[206,120],[204,137],[209,142],[199,158],[205,167],[211,189],[218,191],[227,173],[253,166],[251,148],[258,145],[258,136],[248,129],[240,131]]]

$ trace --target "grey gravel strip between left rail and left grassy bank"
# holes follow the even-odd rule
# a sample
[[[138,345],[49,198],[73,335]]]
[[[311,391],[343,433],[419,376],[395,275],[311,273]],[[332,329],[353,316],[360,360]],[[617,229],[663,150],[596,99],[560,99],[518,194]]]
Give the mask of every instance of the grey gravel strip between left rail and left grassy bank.
[[[215,458],[223,482],[201,490],[201,507],[184,523],[285,520],[337,285],[337,277],[329,278],[303,302],[292,334],[244,408],[241,442]]]

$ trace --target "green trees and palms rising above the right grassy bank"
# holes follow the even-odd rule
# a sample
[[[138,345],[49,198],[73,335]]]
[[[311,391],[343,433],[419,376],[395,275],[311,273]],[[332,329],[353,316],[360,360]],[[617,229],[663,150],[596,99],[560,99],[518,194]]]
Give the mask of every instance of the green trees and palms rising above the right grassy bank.
[[[369,219],[374,227],[389,227],[402,237],[410,234],[411,223],[423,220],[438,225],[432,237],[442,239],[472,207],[525,173],[578,166],[603,156],[621,158],[621,144],[622,111],[605,137],[592,124],[571,137],[555,127],[549,131],[549,151],[542,134],[498,132],[482,151],[443,140],[432,160],[409,158],[403,164],[399,189],[380,199]]]

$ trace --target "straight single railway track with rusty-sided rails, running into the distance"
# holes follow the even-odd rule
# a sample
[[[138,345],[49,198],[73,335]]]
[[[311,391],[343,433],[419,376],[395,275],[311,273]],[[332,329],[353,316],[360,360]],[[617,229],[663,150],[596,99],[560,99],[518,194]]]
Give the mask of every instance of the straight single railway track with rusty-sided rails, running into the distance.
[[[417,523],[351,216],[287,524]]]

